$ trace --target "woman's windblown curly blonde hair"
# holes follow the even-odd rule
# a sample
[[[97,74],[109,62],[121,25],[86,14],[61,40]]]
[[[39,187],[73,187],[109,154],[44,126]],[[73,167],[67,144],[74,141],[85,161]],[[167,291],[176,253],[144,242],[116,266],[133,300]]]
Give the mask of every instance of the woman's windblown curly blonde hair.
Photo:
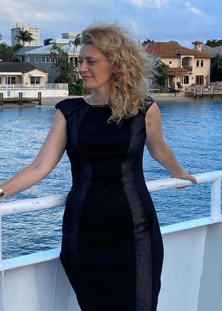
[[[143,46],[135,42],[129,30],[117,22],[93,22],[81,33],[81,44],[94,44],[115,64],[110,84],[109,105],[112,115],[108,119],[118,121],[138,113],[145,106],[145,98],[152,84],[156,58],[145,52]]]

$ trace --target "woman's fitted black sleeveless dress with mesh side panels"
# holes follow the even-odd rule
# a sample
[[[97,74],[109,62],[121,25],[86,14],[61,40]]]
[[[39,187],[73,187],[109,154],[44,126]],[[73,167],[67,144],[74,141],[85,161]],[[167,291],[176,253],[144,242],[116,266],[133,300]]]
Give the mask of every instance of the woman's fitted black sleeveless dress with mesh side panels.
[[[107,123],[109,105],[55,105],[67,120],[72,170],[59,257],[82,311],[156,311],[164,248],[142,167],[154,101],[121,126]]]

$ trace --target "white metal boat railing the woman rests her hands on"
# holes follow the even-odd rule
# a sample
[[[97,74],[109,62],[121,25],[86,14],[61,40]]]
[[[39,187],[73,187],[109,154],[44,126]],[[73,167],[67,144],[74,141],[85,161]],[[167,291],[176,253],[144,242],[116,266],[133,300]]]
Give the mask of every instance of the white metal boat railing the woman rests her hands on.
[[[221,218],[221,179],[222,170],[192,174],[197,184],[211,183],[210,220],[222,221]],[[146,181],[149,192],[183,186],[194,186],[190,180],[167,178]],[[67,194],[58,194],[35,199],[25,199],[7,203],[0,203],[0,266],[2,266],[2,216],[45,210],[53,207],[62,207],[66,204]]]

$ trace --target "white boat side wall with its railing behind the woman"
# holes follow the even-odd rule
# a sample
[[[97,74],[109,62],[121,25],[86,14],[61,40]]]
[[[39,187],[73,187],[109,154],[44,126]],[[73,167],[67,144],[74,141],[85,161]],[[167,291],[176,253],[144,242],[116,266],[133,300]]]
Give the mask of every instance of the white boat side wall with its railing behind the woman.
[[[193,176],[201,183],[200,180],[206,180],[207,175],[211,184],[216,180],[221,182],[222,171]],[[192,183],[163,179],[148,184],[149,191],[157,191]],[[218,183],[216,187],[218,192]],[[212,187],[211,217],[160,228],[164,262],[157,311],[222,311],[222,215],[219,215],[220,194],[216,192]],[[219,197],[212,198],[215,195]],[[57,195],[1,203],[0,212],[3,216],[64,206],[65,200],[66,195]],[[56,248],[2,261],[2,310],[80,311],[75,292],[58,257],[59,252],[60,248]]]

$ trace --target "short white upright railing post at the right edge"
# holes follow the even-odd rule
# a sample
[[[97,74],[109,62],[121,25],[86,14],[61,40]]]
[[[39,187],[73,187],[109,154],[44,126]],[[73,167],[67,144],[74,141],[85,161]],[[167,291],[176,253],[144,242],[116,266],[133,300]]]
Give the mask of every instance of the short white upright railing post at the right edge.
[[[211,182],[210,218],[221,218],[221,178]]]

